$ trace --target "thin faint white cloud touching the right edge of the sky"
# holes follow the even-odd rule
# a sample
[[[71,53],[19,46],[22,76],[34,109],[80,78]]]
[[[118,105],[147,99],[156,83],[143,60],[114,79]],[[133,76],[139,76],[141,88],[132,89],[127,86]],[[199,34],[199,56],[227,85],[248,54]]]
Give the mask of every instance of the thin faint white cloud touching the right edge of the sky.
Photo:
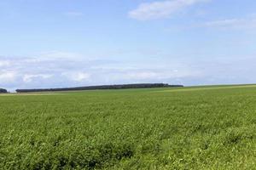
[[[246,17],[241,19],[225,19],[225,20],[213,20],[204,23],[202,26],[209,28],[220,29],[236,29],[236,30],[248,30],[256,28],[256,17]]]

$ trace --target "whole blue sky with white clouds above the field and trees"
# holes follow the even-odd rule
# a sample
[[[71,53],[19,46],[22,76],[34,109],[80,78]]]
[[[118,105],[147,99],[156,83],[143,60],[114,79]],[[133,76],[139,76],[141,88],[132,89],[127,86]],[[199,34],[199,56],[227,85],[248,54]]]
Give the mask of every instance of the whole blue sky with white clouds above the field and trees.
[[[0,88],[256,83],[255,0],[0,0]]]

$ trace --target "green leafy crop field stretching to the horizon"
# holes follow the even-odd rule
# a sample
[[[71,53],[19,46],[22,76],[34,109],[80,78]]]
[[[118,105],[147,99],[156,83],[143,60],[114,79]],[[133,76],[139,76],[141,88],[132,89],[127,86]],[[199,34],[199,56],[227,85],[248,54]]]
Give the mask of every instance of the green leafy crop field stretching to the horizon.
[[[256,169],[256,86],[0,95],[0,169]]]

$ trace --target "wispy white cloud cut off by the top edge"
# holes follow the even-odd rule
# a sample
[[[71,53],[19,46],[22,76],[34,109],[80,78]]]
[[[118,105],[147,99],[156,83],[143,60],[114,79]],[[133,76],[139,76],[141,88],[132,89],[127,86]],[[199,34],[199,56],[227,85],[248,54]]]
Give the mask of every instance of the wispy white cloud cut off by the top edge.
[[[209,0],[167,0],[153,3],[142,3],[138,8],[129,12],[129,17],[136,20],[155,20],[168,18],[195,3],[204,3]]]

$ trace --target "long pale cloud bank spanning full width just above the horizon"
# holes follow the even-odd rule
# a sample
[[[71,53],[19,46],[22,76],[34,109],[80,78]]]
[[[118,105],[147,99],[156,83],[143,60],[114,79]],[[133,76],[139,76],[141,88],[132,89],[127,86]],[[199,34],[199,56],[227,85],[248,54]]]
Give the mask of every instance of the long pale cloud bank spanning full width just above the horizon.
[[[141,61],[90,59],[50,52],[36,57],[0,57],[0,88],[65,88],[103,84],[166,82],[230,84],[256,82],[254,56]]]

